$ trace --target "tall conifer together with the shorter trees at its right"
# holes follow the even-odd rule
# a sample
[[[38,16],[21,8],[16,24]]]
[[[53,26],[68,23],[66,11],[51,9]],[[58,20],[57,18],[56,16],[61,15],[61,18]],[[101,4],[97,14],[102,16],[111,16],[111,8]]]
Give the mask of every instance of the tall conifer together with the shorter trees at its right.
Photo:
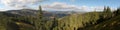
[[[34,21],[35,30],[53,30],[57,26],[57,19],[55,16],[51,20],[43,20],[43,12],[41,6],[39,6],[37,20]]]

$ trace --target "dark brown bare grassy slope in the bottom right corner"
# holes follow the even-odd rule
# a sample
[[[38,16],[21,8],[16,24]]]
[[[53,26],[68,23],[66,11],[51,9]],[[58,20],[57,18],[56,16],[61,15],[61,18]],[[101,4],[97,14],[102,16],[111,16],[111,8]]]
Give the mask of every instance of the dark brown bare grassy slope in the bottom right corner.
[[[115,16],[95,26],[85,27],[79,30],[120,30],[119,28],[120,28],[120,15]]]

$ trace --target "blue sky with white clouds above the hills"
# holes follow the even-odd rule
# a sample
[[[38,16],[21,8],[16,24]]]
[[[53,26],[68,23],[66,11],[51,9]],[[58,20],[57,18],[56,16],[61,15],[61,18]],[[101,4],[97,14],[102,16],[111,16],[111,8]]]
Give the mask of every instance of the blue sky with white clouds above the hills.
[[[13,9],[38,9],[48,11],[102,11],[120,7],[120,0],[0,0],[0,11]]]

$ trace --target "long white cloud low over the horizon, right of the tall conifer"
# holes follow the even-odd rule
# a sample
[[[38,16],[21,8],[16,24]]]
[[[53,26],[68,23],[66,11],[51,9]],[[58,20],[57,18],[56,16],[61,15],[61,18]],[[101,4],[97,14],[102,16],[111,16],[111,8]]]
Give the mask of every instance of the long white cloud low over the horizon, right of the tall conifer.
[[[43,9],[45,10],[63,10],[63,11],[94,11],[96,10],[103,10],[103,6],[95,6],[95,7],[89,7],[89,6],[76,6],[76,5],[69,5],[66,3],[61,3],[61,2],[54,2],[51,5],[44,5]]]

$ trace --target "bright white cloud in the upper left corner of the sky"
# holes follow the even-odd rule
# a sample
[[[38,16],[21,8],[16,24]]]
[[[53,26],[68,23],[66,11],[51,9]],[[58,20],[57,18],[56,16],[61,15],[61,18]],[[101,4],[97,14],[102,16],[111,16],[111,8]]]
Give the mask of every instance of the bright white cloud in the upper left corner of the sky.
[[[7,7],[28,8],[28,5],[34,5],[42,1],[43,0],[0,0],[0,3]]]

